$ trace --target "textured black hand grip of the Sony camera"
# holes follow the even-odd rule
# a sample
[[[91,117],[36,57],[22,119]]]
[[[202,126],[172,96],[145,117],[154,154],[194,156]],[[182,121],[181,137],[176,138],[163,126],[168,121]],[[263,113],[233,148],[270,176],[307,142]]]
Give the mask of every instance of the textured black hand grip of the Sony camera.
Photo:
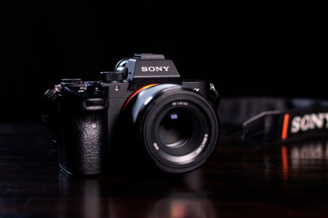
[[[59,163],[70,174],[103,172],[107,153],[107,111],[80,111],[62,105]]]

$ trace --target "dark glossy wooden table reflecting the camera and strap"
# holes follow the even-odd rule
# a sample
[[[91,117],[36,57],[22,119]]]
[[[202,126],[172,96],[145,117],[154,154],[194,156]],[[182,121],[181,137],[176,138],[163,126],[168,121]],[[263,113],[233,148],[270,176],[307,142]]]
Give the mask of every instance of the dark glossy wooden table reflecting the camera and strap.
[[[0,125],[0,217],[324,217],[328,142],[249,145],[222,138],[178,178],[72,178],[43,124]]]

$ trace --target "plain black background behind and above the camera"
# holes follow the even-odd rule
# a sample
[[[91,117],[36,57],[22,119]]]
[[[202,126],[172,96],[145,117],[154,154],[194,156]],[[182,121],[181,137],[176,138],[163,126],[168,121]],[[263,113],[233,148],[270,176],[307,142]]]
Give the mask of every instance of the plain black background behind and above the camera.
[[[162,53],[223,96],[327,97],[320,5],[34,1],[2,7],[0,122],[40,122],[61,78],[97,80],[121,58]]]

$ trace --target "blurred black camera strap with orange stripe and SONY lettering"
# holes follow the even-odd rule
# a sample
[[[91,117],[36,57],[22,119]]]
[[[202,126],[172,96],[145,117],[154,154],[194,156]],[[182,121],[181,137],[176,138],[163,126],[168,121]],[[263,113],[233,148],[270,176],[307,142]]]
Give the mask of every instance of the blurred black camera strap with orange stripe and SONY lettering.
[[[328,136],[326,100],[228,98],[221,101],[221,125],[230,129],[226,135],[237,130],[243,140],[264,143]]]

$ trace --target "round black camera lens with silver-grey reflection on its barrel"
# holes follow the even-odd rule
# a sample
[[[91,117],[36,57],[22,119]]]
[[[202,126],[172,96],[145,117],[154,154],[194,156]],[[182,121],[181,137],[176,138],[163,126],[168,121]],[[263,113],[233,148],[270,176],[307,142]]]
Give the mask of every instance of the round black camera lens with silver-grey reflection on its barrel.
[[[202,165],[214,150],[218,118],[204,96],[175,84],[146,88],[125,109],[132,129],[155,167],[183,173]]]

